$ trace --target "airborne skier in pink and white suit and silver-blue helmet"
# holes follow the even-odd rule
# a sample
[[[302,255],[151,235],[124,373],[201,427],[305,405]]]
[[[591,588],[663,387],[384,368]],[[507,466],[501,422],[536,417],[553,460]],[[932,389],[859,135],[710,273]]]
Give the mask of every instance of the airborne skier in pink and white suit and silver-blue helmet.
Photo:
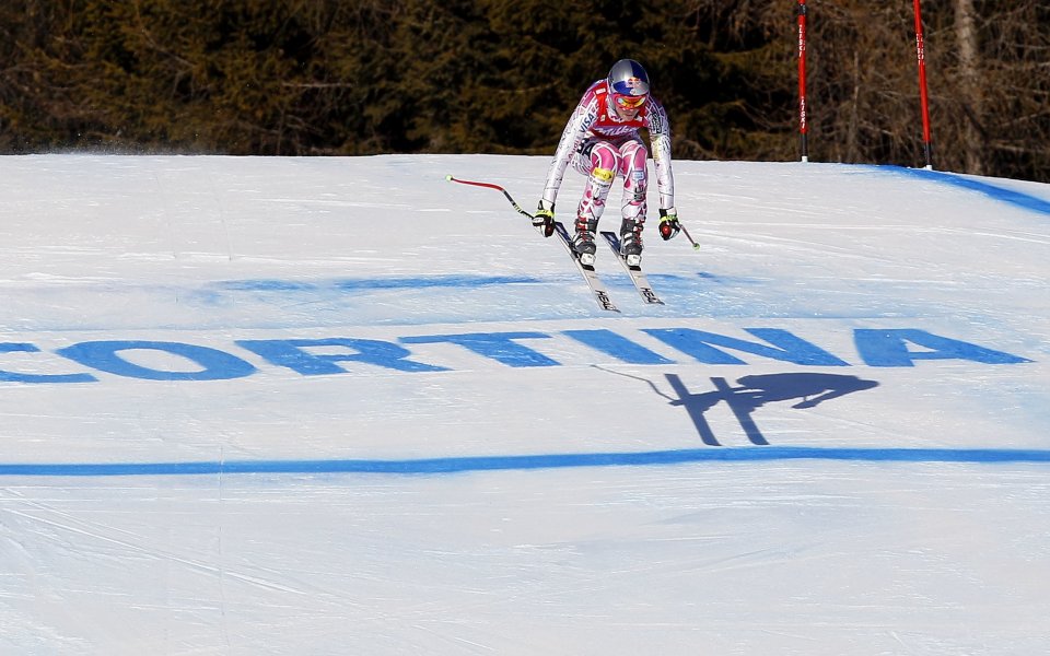
[[[667,113],[649,94],[649,75],[633,59],[621,59],[608,78],[594,82],[561,133],[558,150],[547,173],[547,185],[533,225],[546,236],[553,234],[555,201],[565,168],[587,176],[583,198],[576,208],[573,249],[584,265],[594,263],[594,233],[605,211],[605,199],[617,176],[623,178],[620,201],[620,254],[630,266],[642,259],[642,230],[645,226],[649,186],[649,151],[639,130],[649,130],[656,185],[660,189],[660,236],[667,241],[678,234],[675,181],[670,172],[670,127]]]

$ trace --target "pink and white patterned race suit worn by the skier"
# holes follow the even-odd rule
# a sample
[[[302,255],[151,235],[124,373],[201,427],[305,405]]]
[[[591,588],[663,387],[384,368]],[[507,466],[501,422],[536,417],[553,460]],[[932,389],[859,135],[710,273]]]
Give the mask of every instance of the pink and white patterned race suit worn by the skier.
[[[645,221],[645,195],[649,187],[649,152],[639,130],[649,130],[661,209],[675,206],[675,179],[670,171],[670,126],[667,113],[652,96],[633,119],[621,119],[612,106],[608,83],[599,80],[587,89],[561,133],[558,150],[547,173],[544,200],[553,206],[558,190],[571,164],[587,176],[583,198],[576,209],[578,221],[595,230],[605,199],[617,176],[623,178],[620,210],[625,220]]]

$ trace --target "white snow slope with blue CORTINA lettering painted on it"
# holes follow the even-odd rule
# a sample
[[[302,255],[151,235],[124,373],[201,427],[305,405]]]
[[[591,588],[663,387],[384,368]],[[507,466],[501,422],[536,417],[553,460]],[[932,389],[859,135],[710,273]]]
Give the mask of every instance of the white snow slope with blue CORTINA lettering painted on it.
[[[675,166],[0,157],[0,653],[1045,651],[1050,187]]]

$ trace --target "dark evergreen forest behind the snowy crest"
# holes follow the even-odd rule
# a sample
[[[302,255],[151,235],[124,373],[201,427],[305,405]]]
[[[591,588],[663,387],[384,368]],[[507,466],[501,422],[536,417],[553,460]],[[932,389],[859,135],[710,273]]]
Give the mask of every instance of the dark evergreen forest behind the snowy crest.
[[[797,0],[3,0],[0,152],[550,154],[642,61],[677,159],[800,157]],[[908,0],[809,0],[809,157],[924,165]],[[1050,181],[1050,3],[922,5],[938,169]]]

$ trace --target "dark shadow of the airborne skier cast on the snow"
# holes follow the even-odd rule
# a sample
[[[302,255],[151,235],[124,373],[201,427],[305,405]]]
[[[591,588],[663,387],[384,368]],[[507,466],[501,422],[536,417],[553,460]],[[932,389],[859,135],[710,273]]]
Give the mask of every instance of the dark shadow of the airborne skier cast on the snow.
[[[672,406],[686,408],[700,433],[700,438],[710,446],[721,446],[721,444],[711,431],[704,412],[720,401],[725,401],[736,415],[751,444],[766,445],[769,442],[751,419],[751,413],[766,403],[802,399],[792,408],[815,408],[824,401],[878,386],[875,380],[863,380],[856,376],[839,374],[765,374],[738,378],[739,387],[731,387],[725,378],[712,377],[714,391],[691,394],[677,374],[666,374],[666,377],[678,398],[674,399],[663,394],[661,396],[670,399]]]

